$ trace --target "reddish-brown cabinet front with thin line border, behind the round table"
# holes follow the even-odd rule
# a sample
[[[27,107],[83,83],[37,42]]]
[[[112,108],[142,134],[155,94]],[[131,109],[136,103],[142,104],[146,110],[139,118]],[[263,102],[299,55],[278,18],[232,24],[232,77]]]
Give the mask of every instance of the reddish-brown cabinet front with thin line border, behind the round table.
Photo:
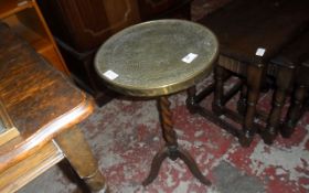
[[[54,35],[78,52],[92,50],[120,29],[140,21],[136,0],[39,2]]]

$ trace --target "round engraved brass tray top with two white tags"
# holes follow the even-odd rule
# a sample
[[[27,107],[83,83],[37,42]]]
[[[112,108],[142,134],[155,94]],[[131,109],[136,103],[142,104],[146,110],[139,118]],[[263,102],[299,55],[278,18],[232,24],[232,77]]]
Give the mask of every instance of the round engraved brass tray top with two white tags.
[[[111,89],[131,96],[160,96],[196,84],[212,71],[215,35],[184,20],[156,20],[129,26],[108,39],[95,68]]]

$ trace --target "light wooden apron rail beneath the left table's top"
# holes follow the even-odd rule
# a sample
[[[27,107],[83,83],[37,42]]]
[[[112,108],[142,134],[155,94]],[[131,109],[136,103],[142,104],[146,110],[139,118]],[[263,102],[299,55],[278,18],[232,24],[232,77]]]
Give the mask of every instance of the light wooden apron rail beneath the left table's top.
[[[36,153],[0,173],[0,192],[15,192],[62,159],[63,153],[52,141],[49,142]]]

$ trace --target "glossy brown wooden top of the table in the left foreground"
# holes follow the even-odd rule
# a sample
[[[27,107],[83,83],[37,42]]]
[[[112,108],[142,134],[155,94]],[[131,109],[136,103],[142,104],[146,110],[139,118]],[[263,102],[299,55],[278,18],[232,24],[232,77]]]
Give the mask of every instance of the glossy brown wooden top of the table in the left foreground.
[[[20,137],[0,147],[0,171],[86,118],[93,100],[0,24],[0,97]]]

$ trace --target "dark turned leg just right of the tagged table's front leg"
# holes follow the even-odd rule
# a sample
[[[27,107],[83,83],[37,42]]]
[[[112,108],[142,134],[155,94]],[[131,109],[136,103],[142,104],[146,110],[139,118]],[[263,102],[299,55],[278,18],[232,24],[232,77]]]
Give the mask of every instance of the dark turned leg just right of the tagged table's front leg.
[[[267,126],[262,137],[264,142],[271,144],[278,133],[283,106],[286,100],[286,93],[292,81],[294,69],[280,67],[276,77],[276,89],[273,97],[273,107],[267,120]]]

